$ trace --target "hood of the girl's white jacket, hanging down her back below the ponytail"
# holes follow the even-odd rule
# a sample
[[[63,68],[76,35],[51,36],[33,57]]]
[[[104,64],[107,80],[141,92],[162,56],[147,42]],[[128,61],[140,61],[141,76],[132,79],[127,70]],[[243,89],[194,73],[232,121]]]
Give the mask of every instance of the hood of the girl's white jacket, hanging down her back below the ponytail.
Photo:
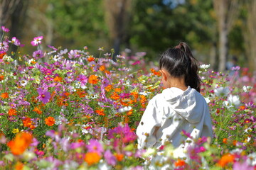
[[[189,123],[199,123],[207,106],[206,100],[196,89],[188,86],[186,91],[178,88],[165,89],[163,99],[176,113],[188,120]],[[203,109],[202,109],[203,108]]]

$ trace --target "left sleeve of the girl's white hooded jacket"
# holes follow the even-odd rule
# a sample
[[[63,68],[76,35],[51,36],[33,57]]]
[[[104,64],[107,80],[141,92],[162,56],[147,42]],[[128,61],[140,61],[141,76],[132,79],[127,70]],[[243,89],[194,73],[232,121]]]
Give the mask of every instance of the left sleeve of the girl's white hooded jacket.
[[[138,137],[138,148],[153,147],[156,143],[156,136],[153,134],[156,127],[161,125],[161,118],[156,108],[155,99],[149,101],[142,119],[138,125],[136,134]]]

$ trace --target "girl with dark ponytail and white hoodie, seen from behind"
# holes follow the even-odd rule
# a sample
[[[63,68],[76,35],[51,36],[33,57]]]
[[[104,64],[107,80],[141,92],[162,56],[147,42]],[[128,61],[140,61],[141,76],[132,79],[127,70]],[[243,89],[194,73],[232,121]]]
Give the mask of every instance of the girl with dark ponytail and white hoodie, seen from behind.
[[[138,148],[161,147],[169,141],[174,147],[186,146],[184,130],[193,138],[213,137],[210,113],[201,96],[198,61],[185,42],[169,48],[159,60],[164,91],[152,98],[137,128]],[[185,147],[185,148],[184,148]]]

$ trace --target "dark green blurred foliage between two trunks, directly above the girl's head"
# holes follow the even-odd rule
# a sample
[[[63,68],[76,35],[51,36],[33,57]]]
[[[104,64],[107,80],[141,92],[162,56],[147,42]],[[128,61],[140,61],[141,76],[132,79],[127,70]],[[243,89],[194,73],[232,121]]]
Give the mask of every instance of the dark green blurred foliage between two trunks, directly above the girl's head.
[[[209,62],[209,51],[216,40],[211,0],[190,0],[181,4],[144,0],[134,6],[131,44],[145,50],[148,57],[157,58],[167,47],[186,41],[196,49],[201,61]]]

